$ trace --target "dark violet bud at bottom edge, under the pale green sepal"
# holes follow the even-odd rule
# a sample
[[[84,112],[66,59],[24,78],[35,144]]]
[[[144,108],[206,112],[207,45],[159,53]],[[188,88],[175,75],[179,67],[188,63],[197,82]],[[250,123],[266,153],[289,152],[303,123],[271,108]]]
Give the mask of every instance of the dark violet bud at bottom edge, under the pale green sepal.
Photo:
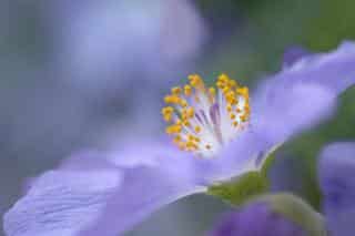
[[[306,236],[297,225],[274,212],[266,203],[253,203],[230,213],[209,236]]]

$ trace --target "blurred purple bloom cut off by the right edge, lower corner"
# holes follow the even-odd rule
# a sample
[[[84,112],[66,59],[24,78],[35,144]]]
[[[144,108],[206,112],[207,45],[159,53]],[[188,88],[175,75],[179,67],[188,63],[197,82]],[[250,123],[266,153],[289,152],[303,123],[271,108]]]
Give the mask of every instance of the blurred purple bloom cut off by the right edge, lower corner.
[[[355,230],[355,143],[327,146],[320,161],[320,182],[327,227],[334,236]]]

